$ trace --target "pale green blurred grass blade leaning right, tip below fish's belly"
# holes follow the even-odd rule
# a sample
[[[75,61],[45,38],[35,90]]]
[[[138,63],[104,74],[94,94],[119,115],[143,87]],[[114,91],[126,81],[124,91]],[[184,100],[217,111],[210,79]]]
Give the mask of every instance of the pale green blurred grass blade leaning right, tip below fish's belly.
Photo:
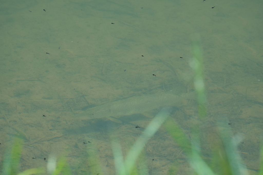
[[[136,140],[135,144],[130,149],[124,165],[120,168],[120,175],[129,175],[135,165],[137,158],[143,150],[146,142],[155,134],[160,128],[165,119],[170,115],[171,109],[168,107],[163,108],[151,121],[149,126],[145,129],[144,133]]]

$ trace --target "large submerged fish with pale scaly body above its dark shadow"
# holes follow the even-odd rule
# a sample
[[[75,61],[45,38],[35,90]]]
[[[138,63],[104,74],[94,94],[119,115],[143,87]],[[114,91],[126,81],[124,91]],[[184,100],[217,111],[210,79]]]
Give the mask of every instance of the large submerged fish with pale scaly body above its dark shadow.
[[[133,114],[144,114],[164,106],[180,106],[183,101],[194,99],[195,94],[188,93],[175,95],[173,93],[151,94],[142,96],[132,96],[114,102],[105,103],[75,114],[81,119],[95,119],[106,117],[114,121],[114,118]],[[114,118],[112,118],[114,117]],[[117,119],[115,122],[121,123]]]

